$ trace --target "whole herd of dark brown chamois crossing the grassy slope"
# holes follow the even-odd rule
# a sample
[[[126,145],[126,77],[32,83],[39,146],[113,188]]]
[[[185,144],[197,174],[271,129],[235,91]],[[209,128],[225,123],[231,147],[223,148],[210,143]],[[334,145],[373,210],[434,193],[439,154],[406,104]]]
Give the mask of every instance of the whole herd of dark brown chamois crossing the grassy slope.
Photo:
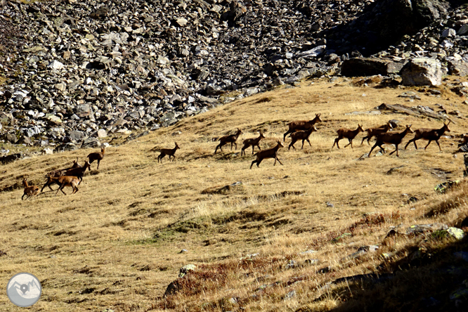
[[[316,117],[314,117],[311,120],[301,120],[301,121],[296,121],[296,122],[290,122],[287,124],[288,130],[283,136],[283,141],[286,140],[286,136],[289,134],[291,137],[291,143],[288,147],[288,150],[290,148],[294,148],[294,144],[301,140],[302,141],[302,146],[301,149],[304,148],[304,142],[307,141],[309,145],[311,145],[311,142],[308,140],[309,136],[311,136],[312,132],[317,131],[316,124],[318,122],[323,122],[323,120],[320,118],[320,114],[316,114]],[[450,124],[450,120],[448,122]],[[334,145],[337,145],[337,148],[339,148],[339,141],[342,140],[343,138],[347,138],[349,143],[346,144],[344,147],[351,145],[351,148],[353,148],[353,139],[356,138],[360,132],[365,132],[367,135],[363,137],[363,140],[361,141],[361,145],[364,143],[365,140],[369,141],[372,137],[376,137],[376,142],[375,145],[372,146],[370,149],[370,152],[368,153],[368,157],[370,157],[370,154],[372,151],[378,146],[382,151],[384,151],[384,148],[382,148],[382,145],[384,143],[387,144],[393,144],[395,145],[395,150],[390,153],[392,155],[394,152],[396,152],[396,156],[398,156],[398,145],[403,141],[403,138],[407,134],[412,134],[414,133],[415,136],[412,138],[408,143],[405,145],[405,149],[410,145],[410,143],[413,143],[415,145],[415,148],[417,149],[416,141],[420,139],[425,139],[429,141],[427,143],[426,147],[424,150],[426,150],[427,146],[432,141],[436,141],[439,150],[441,150],[441,145],[438,143],[439,138],[443,136],[443,134],[448,131],[450,132],[450,129],[448,128],[448,124],[443,124],[441,129],[427,129],[427,128],[420,128],[417,129],[416,131],[413,131],[411,129],[411,124],[407,125],[405,129],[401,132],[396,132],[396,131],[391,131],[393,129],[392,125],[390,122],[387,122],[386,124],[376,127],[376,128],[369,128],[364,130],[363,126],[358,124],[358,127],[356,129],[338,129],[337,130],[337,138],[334,139],[334,143],[332,145],[332,148],[334,148]],[[231,134],[229,136],[221,136],[221,138],[218,138],[216,141],[219,141],[219,144],[216,145],[216,148],[214,150],[214,154],[218,152],[218,149],[223,151],[223,146],[230,143],[230,149],[233,149],[233,145],[235,146],[235,149],[238,148],[238,144],[236,141],[238,140],[239,136],[242,134],[242,130],[237,129],[235,134]],[[266,159],[266,158],[274,158],[275,162],[273,163],[273,166],[276,164],[276,161],[278,161],[280,164],[282,162],[278,159],[278,150],[285,145],[281,141],[277,141],[277,144],[273,148],[269,148],[267,150],[261,150],[260,148],[260,141],[262,138],[265,138],[264,134],[262,131],[259,131],[259,136],[257,138],[247,138],[246,140],[243,141],[242,149],[241,149],[241,156],[245,155],[245,150],[252,146],[252,155],[255,156],[255,160],[252,161],[252,164],[250,164],[250,169],[252,169],[253,165],[256,164],[257,167],[259,167],[260,163]],[[468,142],[468,136],[467,138],[464,138],[465,141]],[[369,144],[370,145],[370,144]],[[259,149],[259,152],[256,152],[254,154],[254,148],[257,147]],[[176,153],[176,150],[178,150],[180,147],[177,143],[175,143],[174,148],[162,148],[160,149],[160,155],[157,157],[158,162],[162,162],[162,158],[164,158],[166,155],[169,156],[169,161],[172,160],[174,161],[176,156],[174,155]],[[62,193],[65,194],[63,191],[63,188],[65,186],[69,186],[72,188],[73,193],[77,193],[78,191],[78,186],[79,183],[82,182],[84,172],[86,169],[91,170],[91,163],[93,161],[97,160],[98,162],[98,167],[99,169],[99,164],[100,160],[103,159],[105,155],[105,148],[102,148],[100,152],[91,152],[87,156],[89,161],[85,162],[84,166],[80,166],[75,160],[73,162],[72,167],[67,168],[67,169],[61,169],[61,170],[56,170],[56,171],[51,171],[46,175],[47,181],[44,183],[44,186],[41,189],[41,192],[48,186],[48,188],[51,188],[52,184],[57,184],[59,186],[56,195],[58,191],[60,190]],[[24,178],[22,181],[22,184],[24,186],[24,194],[22,195],[23,197],[27,196],[34,196],[39,193],[39,187],[37,186],[29,186],[27,183],[27,179]],[[66,195],[66,194],[65,194]]]

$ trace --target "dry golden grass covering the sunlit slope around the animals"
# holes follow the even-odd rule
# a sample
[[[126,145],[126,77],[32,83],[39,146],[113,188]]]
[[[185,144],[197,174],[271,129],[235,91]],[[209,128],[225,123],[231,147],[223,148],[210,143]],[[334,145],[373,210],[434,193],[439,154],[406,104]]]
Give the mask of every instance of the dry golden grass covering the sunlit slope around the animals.
[[[43,293],[31,311],[339,308],[347,298],[346,287],[322,288],[325,283],[378,273],[382,265],[387,268],[404,259],[415,242],[398,238],[358,261],[345,259],[358,247],[382,244],[391,226],[434,221],[453,225],[468,213],[462,195],[466,187],[458,191],[462,200],[434,193],[434,186],[446,178],[462,177],[462,157],[452,154],[455,139],[441,138],[442,152],[436,143],[422,150],[423,141],[418,141],[420,150],[414,146],[403,150],[409,136],[400,146],[400,157],[387,153],[358,160],[370,150],[367,143],[360,145],[360,134],[352,150],[331,150],[335,131],[354,129],[358,123],[365,129],[389,119],[412,124],[413,129],[441,126],[406,115],[345,115],[373,110],[381,103],[431,108],[443,104],[448,111],[468,114],[463,99],[449,86],[439,89],[441,97],[420,93],[422,100],[413,103],[397,98],[405,90],[356,87],[344,80],[303,82],[300,88],[262,93],[106,149],[101,169],[87,173],[75,195],[55,196],[47,188],[32,200],[21,201],[20,183],[27,175],[30,184],[42,187],[48,171],[67,167],[76,157],[83,162],[89,150],[2,166],[0,250],[7,255],[0,257],[1,287],[15,273],[36,275]],[[273,160],[267,159],[249,170],[254,157],[249,150],[240,156],[242,139],[257,136],[261,129],[266,134],[262,148],[273,146],[282,140],[287,122],[311,119],[316,112],[324,122],[316,125],[312,146],[306,143],[301,150],[299,142],[297,150],[287,150],[287,138],[278,154],[284,166],[273,167]],[[450,134],[464,133],[465,119],[452,119]],[[217,142],[212,138],[232,134],[236,128],[244,132],[238,150],[226,145],[213,155]],[[150,150],[172,148],[174,141],[181,147],[176,161],[164,158],[157,164],[159,153]],[[238,181],[242,184],[224,188]],[[419,201],[410,202],[411,196]],[[343,233],[351,235],[332,242]],[[316,253],[301,254],[310,249]],[[384,252],[396,254],[391,264],[382,260]],[[306,259],[320,261],[305,265]],[[287,268],[291,260],[301,266]],[[187,283],[181,292],[163,298],[186,264],[197,265],[197,273],[181,281]],[[316,273],[327,266],[329,273]],[[292,290],[295,295],[285,298]],[[318,297],[320,301],[314,301]],[[6,296],[0,297],[0,309],[20,310]]]

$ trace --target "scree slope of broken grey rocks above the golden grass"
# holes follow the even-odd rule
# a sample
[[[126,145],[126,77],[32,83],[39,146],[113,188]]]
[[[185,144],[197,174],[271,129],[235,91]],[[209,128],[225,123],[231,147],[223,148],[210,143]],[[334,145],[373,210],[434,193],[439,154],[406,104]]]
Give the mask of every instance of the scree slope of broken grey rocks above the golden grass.
[[[350,58],[400,70],[429,57],[468,72],[462,1],[24,2],[0,0],[0,131],[10,143],[93,147],[93,137],[234,100],[230,91],[339,74]]]

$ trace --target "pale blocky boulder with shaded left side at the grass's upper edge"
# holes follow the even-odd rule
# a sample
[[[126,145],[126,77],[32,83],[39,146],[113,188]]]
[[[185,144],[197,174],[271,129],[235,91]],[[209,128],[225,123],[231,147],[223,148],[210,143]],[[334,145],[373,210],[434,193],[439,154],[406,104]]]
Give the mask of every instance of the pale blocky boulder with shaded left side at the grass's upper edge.
[[[442,65],[434,58],[413,58],[400,74],[405,86],[439,86],[442,83]]]

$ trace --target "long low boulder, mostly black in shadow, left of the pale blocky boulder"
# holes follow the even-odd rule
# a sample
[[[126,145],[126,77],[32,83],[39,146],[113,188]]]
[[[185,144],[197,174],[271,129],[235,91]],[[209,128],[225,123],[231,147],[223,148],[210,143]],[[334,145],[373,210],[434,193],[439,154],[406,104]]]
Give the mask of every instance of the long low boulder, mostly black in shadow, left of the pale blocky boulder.
[[[404,63],[395,63],[382,58],[351,58],[342,63],[341,74],[346,77],[374,76],[376,74],[396,74]]]

